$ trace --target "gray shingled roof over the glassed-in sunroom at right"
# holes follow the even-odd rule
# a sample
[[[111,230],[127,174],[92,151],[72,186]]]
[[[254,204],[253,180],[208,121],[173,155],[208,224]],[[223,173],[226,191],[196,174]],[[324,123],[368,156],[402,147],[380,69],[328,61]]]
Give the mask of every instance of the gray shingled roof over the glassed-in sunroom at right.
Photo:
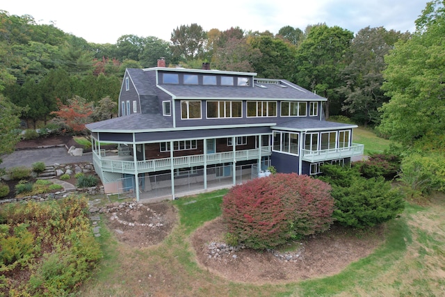
[[[289,122],[282,122],[272,129],[291,129],[296,131],[310,130],[329,130],[329,129],[351,129],[357,128],[357,125],[343,124],[341,122],[329,122],[325,120],[317,120],[314,118],[296,118]]]

